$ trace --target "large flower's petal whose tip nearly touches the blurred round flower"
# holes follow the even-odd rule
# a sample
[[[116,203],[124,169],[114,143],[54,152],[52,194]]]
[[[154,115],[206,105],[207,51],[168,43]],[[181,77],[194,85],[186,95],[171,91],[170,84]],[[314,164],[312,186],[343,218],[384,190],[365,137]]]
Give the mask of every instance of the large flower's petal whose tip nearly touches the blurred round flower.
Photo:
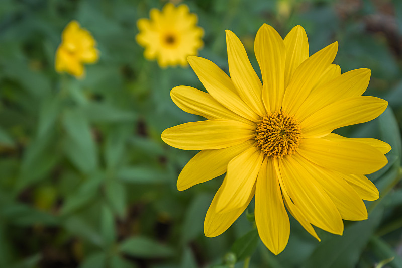
[[[188,63],[211,96],[229,110],[252,121],[259,116],[237,95],[230,77],[208,59],[196,56],[187,57]]]

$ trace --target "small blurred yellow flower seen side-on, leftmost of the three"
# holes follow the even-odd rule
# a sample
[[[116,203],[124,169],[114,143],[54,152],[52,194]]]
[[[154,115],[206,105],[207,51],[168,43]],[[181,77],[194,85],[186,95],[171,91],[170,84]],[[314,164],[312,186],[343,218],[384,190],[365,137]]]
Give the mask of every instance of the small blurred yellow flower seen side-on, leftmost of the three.
[[[56,71],[67,72],[77,78],[83,77],[83,63],[94,63],[99,58],[95,45],[96,41],[91,34],[80,28],[77,21],[71,21],[61,34],[61,44],[56,51]]]

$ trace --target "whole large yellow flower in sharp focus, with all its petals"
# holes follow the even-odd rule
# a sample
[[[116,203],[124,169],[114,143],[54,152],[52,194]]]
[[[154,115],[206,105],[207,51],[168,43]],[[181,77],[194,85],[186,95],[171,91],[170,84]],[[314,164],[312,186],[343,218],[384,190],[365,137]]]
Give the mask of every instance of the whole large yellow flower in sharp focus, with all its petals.
[[[258,233],[275,254],[289,238],[285,206],[318,240],[312,225],[342,235],[342,219],[367,219],[362,199],[376,200],[378,190],[364,174],[387,163],[390,146],[331,132],[372,120],[387,107],[382,99],[361,96],[370,70],[341,74],[331,64],[337,42],[309,57],[303,27],[294,27],[283,40],[264,24],[254,43],[261,83],[229,30],[226,42],[230,77],[211,61],[192,56],[188,61],[209,94],[188,86],[171,91],[179,108],[208,120],[162,133],[170,146],[202,150],[181,171],[179,190],[226,172],[206,215],[206,236],[228,229],[254,195]]]

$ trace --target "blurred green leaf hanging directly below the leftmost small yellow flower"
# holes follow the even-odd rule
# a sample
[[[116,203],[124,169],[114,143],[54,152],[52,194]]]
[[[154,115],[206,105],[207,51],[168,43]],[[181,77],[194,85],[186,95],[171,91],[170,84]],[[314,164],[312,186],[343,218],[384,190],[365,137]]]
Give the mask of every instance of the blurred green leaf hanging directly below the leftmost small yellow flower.
[[[63,125],[67,132],[64,150],[71,162],[84,173],[97,167],[97,150],[91,129],[83,113],[78,109],[66,110]]]

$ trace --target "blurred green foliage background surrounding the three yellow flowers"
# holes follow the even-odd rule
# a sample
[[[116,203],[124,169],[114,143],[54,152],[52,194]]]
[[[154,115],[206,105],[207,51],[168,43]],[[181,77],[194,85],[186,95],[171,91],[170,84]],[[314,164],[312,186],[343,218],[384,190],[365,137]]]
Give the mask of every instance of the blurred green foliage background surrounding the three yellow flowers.
[[[370,68],[365,95],[389,101],[379,118],[338,131],[393,148],[388,165],[369,175],[380,191],[379,201],[366,202],[369,219],[345,221],[342,237],[316,229],[319,243],[291,218],[289,243],[278,256],[247,213],[221,236],[204,236],[222,177],[176,189],[195,152],[167,146],[160,134],[200,118],[177,108],[169,92],[204,88],[188,67],[146,61],[135,42],[136,21],[165,3],[0,1],[0,267],[230,268],[243,267],[250,255],[255,268],[402,267],[402,1],[174,1],[187,4],[205,30],[199,55],[226,72],[225,29],[243,41],[259,72],[258,28],[268,23],[284,37],[300,24],[310,54],[337,40],[342,72]],[[72,19],[100,50],[82,80],[54,70]]]

